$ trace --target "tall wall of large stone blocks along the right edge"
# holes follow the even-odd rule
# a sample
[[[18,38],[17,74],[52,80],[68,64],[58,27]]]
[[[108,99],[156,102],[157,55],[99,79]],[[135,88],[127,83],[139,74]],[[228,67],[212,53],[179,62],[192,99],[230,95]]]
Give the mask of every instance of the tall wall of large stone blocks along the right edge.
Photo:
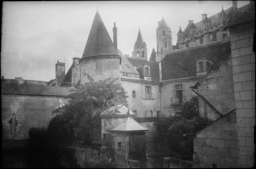
[[[229,30],[236,101],[239,165],[252,167],[255,162],[255,52],[253,52],[255,21],[231,26]]]

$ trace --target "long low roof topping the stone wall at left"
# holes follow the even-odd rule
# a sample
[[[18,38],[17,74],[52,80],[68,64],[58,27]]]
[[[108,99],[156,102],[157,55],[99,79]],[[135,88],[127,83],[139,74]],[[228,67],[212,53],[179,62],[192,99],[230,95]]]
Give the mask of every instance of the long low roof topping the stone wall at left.
[[[74,88],[1,83],[1,94],[67,96]]]

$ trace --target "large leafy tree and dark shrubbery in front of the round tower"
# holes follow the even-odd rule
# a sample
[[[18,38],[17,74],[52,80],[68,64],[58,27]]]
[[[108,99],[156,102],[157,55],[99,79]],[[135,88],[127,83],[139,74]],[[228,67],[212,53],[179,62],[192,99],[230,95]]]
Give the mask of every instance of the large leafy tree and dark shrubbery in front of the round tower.
[[[116,82],[117,79],[94,81],[89,75],[87,77],[89,81],[85,84],[78,83],[73,93],[67,96],[70,100],[53,111],[57,115],[50,121],[47,129],[32,128],[29,131],[32,162],[43,161],[40,158],[44,158],[47,163],[49,160],[57,162],[51,166],[38,162],[37,166],[31,167],[68,167],[64,163],[68,160],[67,146],[99,144],[100,112],[115,103],[127,106],[127,93]]]

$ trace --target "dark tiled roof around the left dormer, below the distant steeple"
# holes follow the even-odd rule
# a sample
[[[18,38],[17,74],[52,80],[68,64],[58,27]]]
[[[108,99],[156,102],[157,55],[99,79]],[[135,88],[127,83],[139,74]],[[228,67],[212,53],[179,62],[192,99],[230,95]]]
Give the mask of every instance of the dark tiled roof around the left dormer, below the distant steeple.
[[[140,65],[148,64],[150,66],[151,80],[159,81],[159,63],[158,62],[141,60],[141,59],[133,59],[133,58],[127,58],[127,59],[133,66],[140,66]],[[142,73],[139,70],[138,70],[138,72],[140,73],[140,75],[142,75]]]

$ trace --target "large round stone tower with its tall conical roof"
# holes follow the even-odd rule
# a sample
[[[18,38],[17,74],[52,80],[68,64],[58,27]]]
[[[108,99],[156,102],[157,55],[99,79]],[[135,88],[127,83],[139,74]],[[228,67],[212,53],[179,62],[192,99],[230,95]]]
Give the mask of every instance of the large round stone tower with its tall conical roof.
[[[86,74],[89,74],[95,81],[108,77],[120,79],[121,56],[117,53],[117,48],[113,44],[98,10],[94,16],[79,64],[81,83],[88,81]]]

